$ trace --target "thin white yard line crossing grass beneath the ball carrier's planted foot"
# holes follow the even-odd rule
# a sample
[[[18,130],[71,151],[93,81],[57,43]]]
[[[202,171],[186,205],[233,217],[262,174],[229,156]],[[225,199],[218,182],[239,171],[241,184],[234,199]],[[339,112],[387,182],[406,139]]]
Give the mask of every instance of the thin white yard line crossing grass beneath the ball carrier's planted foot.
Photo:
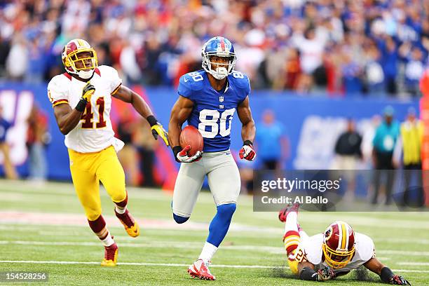
[[[97,261],[34,261],[34,260],[0,260],[0,263],[15,263],[15,264],[93,264],[100,265]],[[168,263],[144,263],[144,262],[118,262],[118,265],[131,265],[131,266],[172,266],[172,267],[187,267],[189,264],[168,264]],[[279,266],[268,265],[225,265],[225,264],[212,264],[210,267],[218,268],[259,268],[271,269],[278,268]],[[429,270],[409,270],[409,269],[392,269],[397,272],[411,272],[411,273],[429,273]]]

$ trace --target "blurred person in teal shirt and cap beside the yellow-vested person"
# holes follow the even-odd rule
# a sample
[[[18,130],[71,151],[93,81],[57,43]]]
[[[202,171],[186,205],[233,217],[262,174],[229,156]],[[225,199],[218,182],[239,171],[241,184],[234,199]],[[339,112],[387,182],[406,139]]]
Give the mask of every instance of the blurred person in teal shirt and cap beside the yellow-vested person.
[[[395,170],[393,166],[393,150],[400,133],[399,123],[393,119],[393,107],[386,107],[383,111],[384,121],[376,129],[373,145],[374,158],[374,196],[372,203],[378,203],[379,193],[381,189],[381,179],[386,177],[386,205],[389,205],[392,200],[393,179]]]

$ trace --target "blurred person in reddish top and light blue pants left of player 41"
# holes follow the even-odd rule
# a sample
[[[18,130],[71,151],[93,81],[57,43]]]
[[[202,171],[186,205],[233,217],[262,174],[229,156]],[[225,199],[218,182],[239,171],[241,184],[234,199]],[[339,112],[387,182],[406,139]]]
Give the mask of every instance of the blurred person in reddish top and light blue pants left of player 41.
[[[48,177],[46,147],[50,143],[48,116],[34,104],[28,118],[27,147],[29,151],[29,179],[43,184]]]

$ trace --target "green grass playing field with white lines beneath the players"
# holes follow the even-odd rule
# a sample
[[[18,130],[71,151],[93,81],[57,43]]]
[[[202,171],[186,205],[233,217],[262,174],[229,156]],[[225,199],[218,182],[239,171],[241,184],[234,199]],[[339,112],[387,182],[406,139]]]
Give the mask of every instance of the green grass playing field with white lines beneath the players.
[[[311,285],[292,276],[282,248],[277,213],[252,212],[241,196],[233,224],[213,259],[217,281],[193,280],[186,268],[200,253],[215,212],[210,193],[201,193],[189,222],[171,218],[168,193],[128,189],[129,208],[142,234],[127,236],[101,191],[103,214],[119,246],[118,266],[102,268],[103,248],[86,223],[71,184],[43,187],[0,180],[0,271],[48,272],[49,285]],[[335,219],[374,239],[379,259],[412,285],[429,285],[428,212],[300,212],[309,235]],[[365,278],[365,282],[359,279]],[[329,285],[379,285],[379,277],[357,271]],[[34,283],[28,283],[34,285]],[[36,285],[46,284],[36,283]],[[0,282],[0,285],[18,285]]]

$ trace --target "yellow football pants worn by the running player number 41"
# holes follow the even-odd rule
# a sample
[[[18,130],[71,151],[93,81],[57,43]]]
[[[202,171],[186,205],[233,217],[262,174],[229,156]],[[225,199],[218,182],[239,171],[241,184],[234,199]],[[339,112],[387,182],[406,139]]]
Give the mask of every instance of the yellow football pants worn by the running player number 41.
[[[102,213],[100,181],[114,203],[125,200],[125,174],[114,147],[94,153],[69,149],[69,158],[74,189],[90,221]]]

